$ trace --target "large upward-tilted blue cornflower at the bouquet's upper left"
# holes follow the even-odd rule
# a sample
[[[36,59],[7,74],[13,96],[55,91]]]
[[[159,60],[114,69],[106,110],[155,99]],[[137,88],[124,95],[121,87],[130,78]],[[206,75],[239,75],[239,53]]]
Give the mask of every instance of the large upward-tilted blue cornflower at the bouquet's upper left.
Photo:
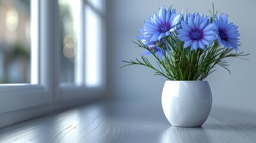
[[[180,19],[181,14],[176,15],[175,10],[171,10],[171,8],[166,10],[161,7],[158,15],[154,13],[150,20],[145,21],[142,34],[150,37],[149,42],[160,41],[165,36],[171,35],[171,32],[177,28]]]

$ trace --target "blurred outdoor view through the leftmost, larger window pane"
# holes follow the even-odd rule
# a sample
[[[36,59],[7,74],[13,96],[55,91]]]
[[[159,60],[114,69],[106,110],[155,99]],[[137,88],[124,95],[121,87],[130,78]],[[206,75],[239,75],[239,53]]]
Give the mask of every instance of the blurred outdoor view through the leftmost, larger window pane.
[[[0,83],[30,82],[30,1],[0,0]]]

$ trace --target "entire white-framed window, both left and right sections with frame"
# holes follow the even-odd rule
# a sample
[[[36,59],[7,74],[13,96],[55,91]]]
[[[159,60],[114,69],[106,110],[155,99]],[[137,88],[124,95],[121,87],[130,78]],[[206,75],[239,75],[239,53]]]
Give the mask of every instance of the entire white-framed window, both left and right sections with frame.
[[[11,4],[5,13],[1,12],[1,7]],[[0,126],[17,122],[21,110],[24,113],[55,102],[66,105],[61,102],[103,95],[103,0],[0,0],[0,12],[0,18],[7,15],[0,20],[0,26],[2,21],[8,23],[4,23],[6,29],[0,29],[0,34],[5,30],[17,35],[1,34],[0,42],[15,45],[21,38],[24,45],[14,46],[16,58],[8,61],[7,68],[0,68],[0,118],[11,115],[13,120],[1,120]],[[0,51],[0,66],[4,66],[2,58],[7,56],[3,53]]]

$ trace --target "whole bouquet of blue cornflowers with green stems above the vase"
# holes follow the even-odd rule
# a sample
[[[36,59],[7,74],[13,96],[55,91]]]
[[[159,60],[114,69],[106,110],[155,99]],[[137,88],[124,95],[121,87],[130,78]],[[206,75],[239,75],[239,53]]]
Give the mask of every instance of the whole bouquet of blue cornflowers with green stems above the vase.
[[[141,60],[124,61],[125,66],[142,65],[168,80],[204,80],[219,65],[228,69],[227,57],[241,57],[238,26],[229,23],[227,14],[176,14],[172,7],[159,9],[144,22],[134,42],[146,49]],[[157,67],[146,55],[153,55]],[[124,66],[124,67],[125,67]],[[230,73],[230,71],[229,71]]]

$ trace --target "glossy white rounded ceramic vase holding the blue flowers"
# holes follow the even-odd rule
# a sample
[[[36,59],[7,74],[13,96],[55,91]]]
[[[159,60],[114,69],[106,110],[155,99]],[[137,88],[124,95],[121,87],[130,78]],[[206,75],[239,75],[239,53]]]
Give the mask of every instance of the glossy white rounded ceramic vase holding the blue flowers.
[[[209,83],[166,80],[162,91],[162,107],[172,126],[202,126],[212,107]]]

